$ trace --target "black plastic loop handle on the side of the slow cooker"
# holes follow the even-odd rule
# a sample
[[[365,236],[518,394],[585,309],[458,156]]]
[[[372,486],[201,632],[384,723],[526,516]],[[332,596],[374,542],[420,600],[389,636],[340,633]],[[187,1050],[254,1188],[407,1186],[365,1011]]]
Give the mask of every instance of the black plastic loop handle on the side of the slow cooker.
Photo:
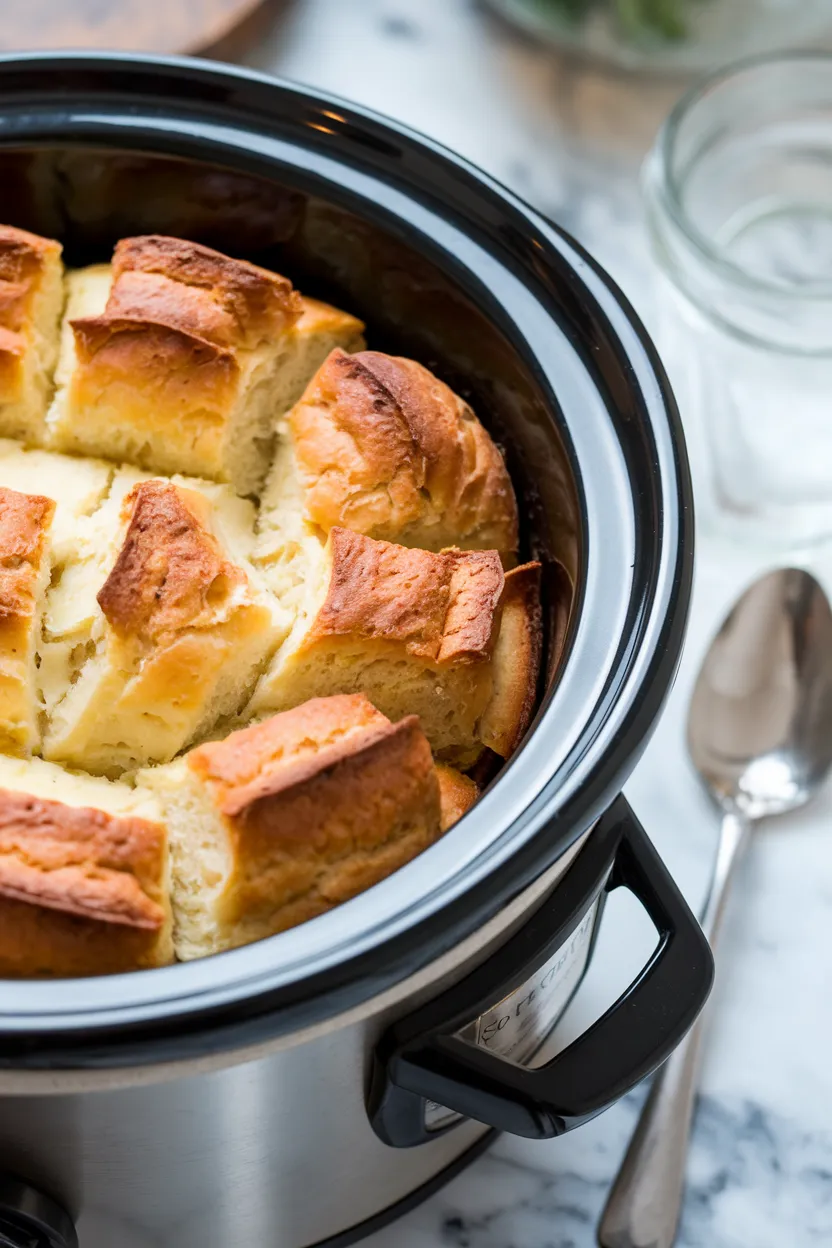
[[[599,895],[617,887],[642,904],[659,943],[596,1023],[535,1070],[459,1035],[525,983]],[[425,1102],[433,1101],[498,1131],[531,1139],[559,1136],[614,1104],[664,1062],[705,1005],[712,981],[713,958],[696,919],[630,806],[617,797],[529,922],[465,980],[383,1037],[369,1094],[373,1127],[395,1147],[435,1139],[443,1129],[425,1126]]]

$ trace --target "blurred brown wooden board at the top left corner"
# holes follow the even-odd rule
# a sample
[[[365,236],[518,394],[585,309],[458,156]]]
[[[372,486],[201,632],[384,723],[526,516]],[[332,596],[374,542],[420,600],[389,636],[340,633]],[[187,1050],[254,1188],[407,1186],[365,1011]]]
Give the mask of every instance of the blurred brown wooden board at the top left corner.
[[[16,0],[2,4],[0,52],[67,47],[198,52],[262,0]]]

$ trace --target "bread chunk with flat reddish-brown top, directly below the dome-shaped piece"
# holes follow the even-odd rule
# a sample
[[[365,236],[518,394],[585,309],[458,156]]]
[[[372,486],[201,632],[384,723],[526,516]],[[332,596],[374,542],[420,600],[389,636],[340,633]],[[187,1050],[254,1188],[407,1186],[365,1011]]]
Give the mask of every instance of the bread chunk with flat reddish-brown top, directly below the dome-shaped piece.
[[[510,679],[494,670],[506,579],[496,550],[437,554],[332,529],[319,565],[306,578],[307,597],[292,631],[247,714],[364,693],[392,720],[418,715],[439,758],[472,764],[485,744],[480,723],[496,716],[495,691],[510,690],[516,713],[516,725],[490,733],[506,744],[521,730],[533,699],[520,705],[516,690],[536,684],[529,656],[515,659],[508,648],[499,651],[501,661],[511,671],[515,663],[523,666]]]

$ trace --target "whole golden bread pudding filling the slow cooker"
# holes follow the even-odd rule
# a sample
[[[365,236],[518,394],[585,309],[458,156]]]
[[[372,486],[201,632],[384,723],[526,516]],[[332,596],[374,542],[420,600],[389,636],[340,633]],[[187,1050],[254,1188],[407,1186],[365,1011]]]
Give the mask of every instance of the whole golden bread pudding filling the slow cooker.
[[[420,363],[161,236],[0,227],[0,975],[324,914],[428,849],[531,716],[540,568]]]

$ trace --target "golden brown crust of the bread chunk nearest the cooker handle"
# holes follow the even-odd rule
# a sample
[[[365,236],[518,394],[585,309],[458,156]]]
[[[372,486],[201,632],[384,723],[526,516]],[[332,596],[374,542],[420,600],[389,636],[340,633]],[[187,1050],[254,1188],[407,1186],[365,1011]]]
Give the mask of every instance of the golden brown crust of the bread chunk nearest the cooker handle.
[[[430,746],[362,695],[313,699],[200,746],[188,765],[232,837],[225,921],[283,931],[384,879],[440,835]]]

